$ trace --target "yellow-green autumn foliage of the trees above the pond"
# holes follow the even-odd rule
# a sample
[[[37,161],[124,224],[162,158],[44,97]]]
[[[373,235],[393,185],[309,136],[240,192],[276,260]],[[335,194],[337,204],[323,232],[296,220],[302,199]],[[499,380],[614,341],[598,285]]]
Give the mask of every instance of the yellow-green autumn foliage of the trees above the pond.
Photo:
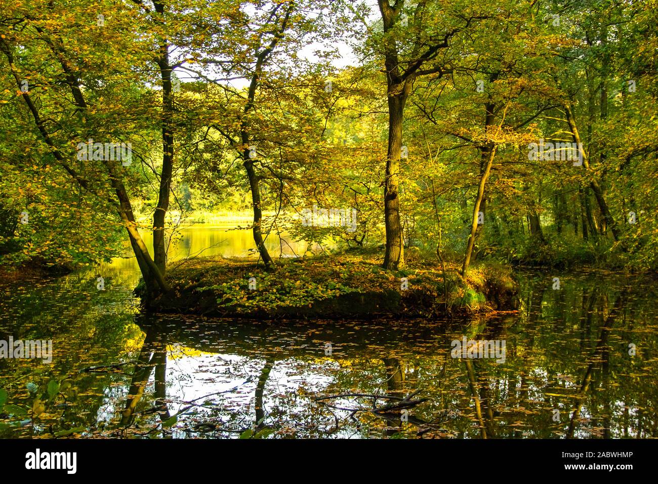
[[[658,267],[655,0],[400,1],[388,26],[360,1],[32,3],[0,14],[2,264],[107,261],[132,211],[173,243],[180,224],[230,210],[265,237],[382,245],[395,51],[418,72],[395,175],[405,252],[432,257],[441,238],[459,263],[478,205],[476,261]],[[132,165],[77,159],[90,138],[131,142]],[[538,140],[580,140],[584,163],[531,159]],[[354,230],[303,225],[314,206],[354,209]]]

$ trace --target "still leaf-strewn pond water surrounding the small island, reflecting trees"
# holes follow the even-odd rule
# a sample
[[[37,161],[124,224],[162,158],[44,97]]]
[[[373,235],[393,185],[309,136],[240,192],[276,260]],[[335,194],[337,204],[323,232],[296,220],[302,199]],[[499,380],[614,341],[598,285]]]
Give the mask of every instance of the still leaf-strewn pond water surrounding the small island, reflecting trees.
[[[252,245],[248,230],[193,227],[170,263]],[[53,341],[52,363],[0,359],[0,437],[658,437],[650,277],[521,271],[517,313],[276,326],[143,315],[138,277],[126,258],[0,281],[0,340]],[[453,358],[463,337],[504,341],[504,361]]]

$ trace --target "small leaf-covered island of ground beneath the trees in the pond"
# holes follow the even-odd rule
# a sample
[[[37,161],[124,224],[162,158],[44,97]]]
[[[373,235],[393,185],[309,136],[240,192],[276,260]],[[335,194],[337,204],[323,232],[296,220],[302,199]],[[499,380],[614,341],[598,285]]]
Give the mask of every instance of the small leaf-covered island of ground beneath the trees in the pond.
[[[517,308],[509,267],[479,265],[467,277],[458,269],[446,263],[444,279],[437,261],[417,259],[386,271],[379,255],[332,254],[279,259],[276,269],[265,271],[253,259],[203,257],[170,269],[172,292],[148,307],[257,319],[433,317]]]

